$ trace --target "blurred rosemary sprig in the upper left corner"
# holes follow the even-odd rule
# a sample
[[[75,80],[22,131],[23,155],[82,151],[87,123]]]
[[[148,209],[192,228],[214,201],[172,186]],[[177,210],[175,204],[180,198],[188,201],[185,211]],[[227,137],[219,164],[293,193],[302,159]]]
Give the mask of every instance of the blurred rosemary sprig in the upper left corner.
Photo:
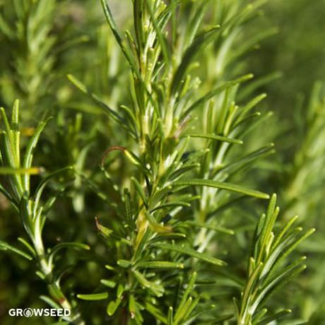
[[[20,98],[23,119],[40,118],[64,102],[65,59],[71,47],[88,40],[71,29],[62,13],[68,1],[15,0],[0,3],[0,102],[9,106]],[[70,13],[72,16],[72,13]],[[71,64],[69,64],[71,66]],[[64,95],[65,93],[65,95]]]

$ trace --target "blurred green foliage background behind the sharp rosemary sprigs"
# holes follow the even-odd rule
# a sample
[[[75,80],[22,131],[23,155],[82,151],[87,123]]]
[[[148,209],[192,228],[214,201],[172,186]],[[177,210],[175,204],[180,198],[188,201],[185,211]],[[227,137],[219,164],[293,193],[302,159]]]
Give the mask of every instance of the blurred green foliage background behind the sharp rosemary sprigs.
[[[20,99],[27,135],[30,125],[53,116],[35,154],[37,165],[48,170],[73,165],[80,172],[57,202],[56,213],[49,215],[45,241],[80,239],[96,245],[98,263],[82,254],[78,261],[73,254],[64,256],[67,264],[77,265],[73,277],[64,283],[66,290],[82,292],[95,288],[102,278],[99,265],[105,247],[95,235],[94,217],[109,218],[110,204],[105,196],[114,196],[114,189],[107,188],[98,176],[98,165],[108,147],[119,143],[125,146],[128,140],[69,83],[66,74],[73,73],[91,85],[107,104],[117,107],[131,102],[128,67],[104,22],[100,1],[45,0],[39,1],[39,6],[36,2],[0,0],[0,104],[10,108],[16,98]],[[110,1],[123,28],[131,24],[129,2]],[[211,1],[211,8],[219,3]],[[259,46],[244,55],[237,68],[254,73],[255,81],[244,91],[267,93],[264,110],[273,111],[273,117],[256,131],[264,138],[256,140],[252,135],[251,147],[256,147],[256,141],[274,142],[276,154],[261,162],[260,172],[249,172],[247,183],[259,183],[254,187],[268,193],[276,191],[284,220],[299,214],[304,225],[317,228],[316,234],[300,247],[309,257],[307,271],[280,296],[294,308],[295,315],[283,324],[325,324],[324,16],[324,0],[268,1],[261,16],[237,40],[240,44],[259,30],[271,30]],[[206,68],[208,73],[208,65]],[[117,177],[123,178],[123,164],[120,160],[111,166]],[[52,186],[55,189],[57,184]],[[261,211],[254,204],[242,203],[244,215],[251,217],[240,221],[243,231],[235,237],[237,244],[228,242],[238,247],[236,252],[232,249],[233,261],[241,259],[247,250],[252,232],[249,218],[257,218]],[[4,196],[0,196],[0,213],[1,240],[16,240],[23,228]],[[224,218],[238,224],[232,213],[228,211]],[[76,224],[77,228],[73,226]],[[237,274],[243,268],[238,266]],[[44,286],[35,278],[32,265],[16,256],[0,254],[0,323],[25,324],[24,319],[8,317],[7,310],[13,306],[43,306],[38,297]],[[93,314],[96,312],[102,311]],[[97,322],[94,319],[93,324],[100,324],[100,317]]]

